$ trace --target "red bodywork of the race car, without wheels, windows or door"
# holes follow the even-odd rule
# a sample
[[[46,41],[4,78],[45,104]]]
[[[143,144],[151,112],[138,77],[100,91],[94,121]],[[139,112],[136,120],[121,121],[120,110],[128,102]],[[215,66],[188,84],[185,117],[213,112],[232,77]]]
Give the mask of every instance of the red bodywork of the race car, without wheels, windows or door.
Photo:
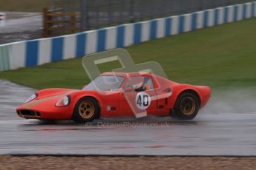
[[[129,78],[133,76],[149,76],[151,77],[154,90],[150,93],[154,93],[154,101],[151,102],[146,111],[148,115],[170,115],[171,109],[174,108],[174,104],[177,97],[182,92],[193,92],[200,99],[200,108],[205,106],[209,101],[211,95],[211,89],[208,86],[192,86],[189,84],[177,84],[174,81],[162,78],[158,75],[152,75],[149,73],[125,73],[125,72],[105,72],[102,75],[118,75],[124,77],[124,81],[119,90],[116,91],[96,91],[96,90],[76,90],[76,89],[42,89],[37,92],[38,96],[33,101],[22,104],[16,111],[19,117],[33,118],[43,120],[71,120],[73,118],[73,111],[76,103],[79,99],[84,97],[95,98],[100,106],[100,117],[122,117],[132,116],[131,107],[125,100],[123,88]],[[171,89],[171,95],[167,95],[166,98],[160,98],[160,95],[168,93]],[[168,92],[167,92],[167,91]],[[137,93],[137,92],[134,92]],[[56,103],[64,98],[66,95],[70,95],[70,103],[68,106],[57,107]],[[135,99],[134,99],[135,100]],[[107,109],[108,106],[114,109]]]

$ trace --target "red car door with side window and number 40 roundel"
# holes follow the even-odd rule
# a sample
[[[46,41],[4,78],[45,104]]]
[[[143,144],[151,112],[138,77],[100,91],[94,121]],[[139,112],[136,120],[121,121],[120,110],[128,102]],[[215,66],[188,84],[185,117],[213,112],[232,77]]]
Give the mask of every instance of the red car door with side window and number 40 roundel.
[[[119,110],[123,115],[137,118],[157,113],[157,93],[150,76],[129,78],[119,93]]]

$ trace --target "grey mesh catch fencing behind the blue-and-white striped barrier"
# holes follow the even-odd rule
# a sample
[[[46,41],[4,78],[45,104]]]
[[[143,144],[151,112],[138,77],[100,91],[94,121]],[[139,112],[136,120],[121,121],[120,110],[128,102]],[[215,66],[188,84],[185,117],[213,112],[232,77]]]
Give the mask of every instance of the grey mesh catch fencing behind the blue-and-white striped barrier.
[[[250,0],[52,0],[52,10],[81,13],[81,30],[193,13]]]

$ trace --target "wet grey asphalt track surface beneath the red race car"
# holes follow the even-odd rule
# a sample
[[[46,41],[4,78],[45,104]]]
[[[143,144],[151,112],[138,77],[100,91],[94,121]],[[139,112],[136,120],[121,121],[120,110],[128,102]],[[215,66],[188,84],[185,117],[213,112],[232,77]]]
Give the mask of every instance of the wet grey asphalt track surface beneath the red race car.
[[[86,126],[71,121],[42,123],[16,116],[16,106],[33,92],[0,81],[0,154],[256,155],[253,112],[201,112],[191,121],[144,118],[98,120]]]

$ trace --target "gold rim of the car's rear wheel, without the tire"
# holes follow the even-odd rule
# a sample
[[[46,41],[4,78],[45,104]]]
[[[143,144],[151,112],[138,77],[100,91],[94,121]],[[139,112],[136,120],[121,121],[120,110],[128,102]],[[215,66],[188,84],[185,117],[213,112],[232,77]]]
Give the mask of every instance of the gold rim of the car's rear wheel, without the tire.
[[[196,102],[194,101],[194,98],[191,98],[191,97],[183,98],[183,100],[180,102],[180,109],[184,115],[193,114],[196,109]]]

